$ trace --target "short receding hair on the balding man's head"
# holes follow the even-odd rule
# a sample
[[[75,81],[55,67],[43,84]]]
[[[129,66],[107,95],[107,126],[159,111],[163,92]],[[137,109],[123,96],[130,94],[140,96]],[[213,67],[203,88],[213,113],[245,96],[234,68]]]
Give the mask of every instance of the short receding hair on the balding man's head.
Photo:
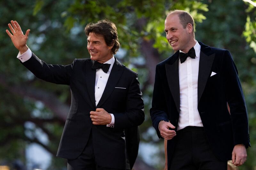
[[[189,24],[192,25],[193,28],[193,32],[194,32],[194,19],[193,17],[190,15],[190,13],[188,13],[187,11],[183,11],[183,10],[173,10],[173,11],[169,11],[166,14],[166,17],[168,17],[171,14],[178,14],[179,18],[180,18],[180,24],[183,26],[183,28],[185,29],[186,26]]]

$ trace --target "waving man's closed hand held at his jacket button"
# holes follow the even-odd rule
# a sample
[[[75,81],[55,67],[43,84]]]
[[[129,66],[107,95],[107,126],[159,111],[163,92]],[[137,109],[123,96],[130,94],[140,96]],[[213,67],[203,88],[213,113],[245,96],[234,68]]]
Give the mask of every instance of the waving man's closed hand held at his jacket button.
[[[110,124],[112,120],[111,115],[103,108],[96,108],[96,111],[91,111],[90,118],[94,125]]]

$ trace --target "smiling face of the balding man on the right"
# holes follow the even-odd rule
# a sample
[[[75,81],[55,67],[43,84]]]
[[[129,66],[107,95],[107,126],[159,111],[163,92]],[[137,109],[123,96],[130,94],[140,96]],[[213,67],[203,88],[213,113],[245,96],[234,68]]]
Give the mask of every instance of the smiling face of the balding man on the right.
[[[188,24],[189,25],[189,24]],[[166,39],[172,46],[173,50],[182,50],[187,53],[190,46],[191,28],[190,26],[183,26],[180,24],[180,18],[178,14],[170,14],[164,21],[164,31],[166,33]],[[193,47],[193,46],[192,46]]]

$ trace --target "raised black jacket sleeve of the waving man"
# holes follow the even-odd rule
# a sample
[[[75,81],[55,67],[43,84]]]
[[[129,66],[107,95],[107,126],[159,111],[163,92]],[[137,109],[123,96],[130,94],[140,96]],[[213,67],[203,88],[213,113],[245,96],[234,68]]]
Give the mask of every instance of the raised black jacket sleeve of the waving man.
[[[22,64],[37,78],[55,84],[69,85],[75,63],[76,59],[72,64],[66,66],[47,64],[32,53],[32,57]]]

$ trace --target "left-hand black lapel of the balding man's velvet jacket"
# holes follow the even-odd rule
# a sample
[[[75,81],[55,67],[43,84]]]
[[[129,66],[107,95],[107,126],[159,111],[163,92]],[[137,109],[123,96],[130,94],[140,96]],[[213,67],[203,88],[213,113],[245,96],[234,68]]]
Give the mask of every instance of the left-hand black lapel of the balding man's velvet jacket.
[[[166,77],[178,113],[180,113],[179,53],[176,52],[165,64]]]

